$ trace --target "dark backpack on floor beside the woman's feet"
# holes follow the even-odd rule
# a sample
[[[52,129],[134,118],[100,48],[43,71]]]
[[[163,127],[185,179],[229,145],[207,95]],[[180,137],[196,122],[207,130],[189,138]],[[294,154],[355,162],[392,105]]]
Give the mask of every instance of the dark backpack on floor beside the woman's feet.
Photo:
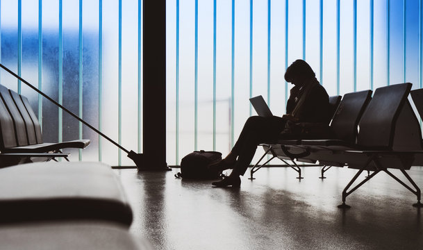
[[[208,169],[210,163],[222,160],[222,153],[216,151],[194,151],[188,153],[181,160],[181,172],[175,174],[176,178],[197,180],[213,180],[222,177],[222,171]]]

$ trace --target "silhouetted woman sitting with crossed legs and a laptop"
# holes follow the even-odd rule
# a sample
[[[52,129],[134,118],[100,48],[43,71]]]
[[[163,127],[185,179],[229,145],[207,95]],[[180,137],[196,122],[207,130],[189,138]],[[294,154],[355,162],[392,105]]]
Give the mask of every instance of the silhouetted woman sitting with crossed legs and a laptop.
[[[283,117],[253,116],[247,119],[231,152],[210,169],[233,169],[222,181],[213,182],[217,187],[241,184],[244,175],[256,153],[258,144],[283,137],[284,128],[290,122],[327,122],[329,117],[329,96],[315,77],[315,72],[304,60],[296,60],[285,72],[285,81],[295,85],[290,90]],[[283,133],[281,133],[283,131]],[[281,135],[279,135],[281,134]],[[287,135],[285,133],[285,135]]]

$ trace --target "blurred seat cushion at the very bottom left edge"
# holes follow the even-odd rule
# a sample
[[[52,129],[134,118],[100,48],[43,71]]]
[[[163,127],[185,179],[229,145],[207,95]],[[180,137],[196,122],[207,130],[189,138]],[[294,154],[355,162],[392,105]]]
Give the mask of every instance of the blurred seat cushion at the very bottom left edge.
[[[154,249],[126,228],[105,222],[38,222],[0,226],[1,249]]]

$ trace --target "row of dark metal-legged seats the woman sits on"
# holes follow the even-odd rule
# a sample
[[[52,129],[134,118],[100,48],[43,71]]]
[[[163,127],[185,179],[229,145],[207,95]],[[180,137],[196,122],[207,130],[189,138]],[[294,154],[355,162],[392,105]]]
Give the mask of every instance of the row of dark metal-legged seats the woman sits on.
[[[330,124],[333,138],[321,140],[284,140],[262,144],[265,154],[285,163],[292,160],[304,163],[320,163],[325,167],[349,167],[358,169],[342,192],[342,205],[349,194],[369,181],[379,172],[385,172],[404,185],[417,197],[413,206],[420,203],[420,188],[406,173],[411,166],[423,166],[423,140],[420,122],[415,115],[408,95],[411,94],[420,117],[423,115],[423,90],[413,90],[411,83],[401,83],[372,90],[345,94]],[[264,155],[263,155],[264,156]],[[260,159],[261,160],[261,159]],[[251,178],[258,164],[251,169]],[[325,167],[323,172],[327,170]],[[299,167],[298,167],[299,169]],[[399,169],[408,179],[410,187],[388,169]],[[363,171],[372,172],[365,180],[354,184]],[[301,175],[299,176],[301,178]],[[350,190],[351,188],[351,190]]]

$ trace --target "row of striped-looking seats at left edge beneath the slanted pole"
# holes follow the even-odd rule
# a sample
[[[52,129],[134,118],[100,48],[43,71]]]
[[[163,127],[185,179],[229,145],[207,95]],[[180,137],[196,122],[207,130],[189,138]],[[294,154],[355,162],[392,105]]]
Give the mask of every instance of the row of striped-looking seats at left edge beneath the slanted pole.
[[[67,159],[65,148],[84,149],[90,140],[48,143],[42,140],[42,128],[29,101],[21,94],[0,85],[0,167]]]

